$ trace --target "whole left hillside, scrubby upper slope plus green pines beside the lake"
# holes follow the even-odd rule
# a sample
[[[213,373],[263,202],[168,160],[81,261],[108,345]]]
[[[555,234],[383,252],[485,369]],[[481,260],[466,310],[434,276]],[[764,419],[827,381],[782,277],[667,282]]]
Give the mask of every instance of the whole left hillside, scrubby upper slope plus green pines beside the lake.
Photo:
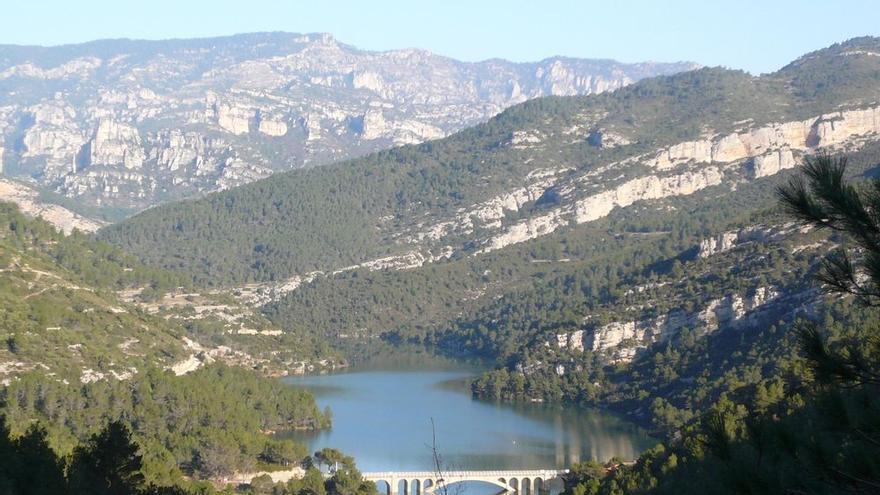
[[[3,441],[40,437],[65,458],[120,420],[143,475],[167,485],[299,461],[302,445],[264,432],[329,426],[310,393],[264,376],[332,366],[309,336],[180,295],[174,274],[14,205],[0,202],[0,226]]]

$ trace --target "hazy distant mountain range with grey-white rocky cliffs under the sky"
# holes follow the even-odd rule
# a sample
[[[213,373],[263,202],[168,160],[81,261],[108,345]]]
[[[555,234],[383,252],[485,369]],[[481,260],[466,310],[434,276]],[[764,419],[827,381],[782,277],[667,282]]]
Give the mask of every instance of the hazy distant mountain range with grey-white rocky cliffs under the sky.
[[[0,46],[0,169],[95,219],[446,136],[693,63],[460,62],[328,34]],[[90,228],[88,222],[68,223]]]

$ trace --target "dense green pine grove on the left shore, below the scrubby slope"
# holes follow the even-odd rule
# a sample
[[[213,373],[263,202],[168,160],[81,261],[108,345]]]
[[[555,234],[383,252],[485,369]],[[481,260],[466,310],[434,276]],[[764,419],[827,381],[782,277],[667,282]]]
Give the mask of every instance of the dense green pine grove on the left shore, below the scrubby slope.
[[[143,447],[145,474],[160,484],[184,473],[220,478],[262,463],[298,463],[307,454],[301,445],[267,433],[329,426],[310,393],[225,366],[181,377],[147,370],[81,386],[26,374],[0,391],[0,406],[14,435],[39,421],[61,454],[120,419]]]

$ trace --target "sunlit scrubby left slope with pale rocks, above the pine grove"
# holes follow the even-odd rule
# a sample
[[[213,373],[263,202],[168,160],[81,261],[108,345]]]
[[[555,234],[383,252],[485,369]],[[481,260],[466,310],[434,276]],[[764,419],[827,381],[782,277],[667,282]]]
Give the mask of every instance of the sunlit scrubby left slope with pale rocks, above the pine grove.
[[[282,374],[332,356],[228,296],[187,292],[181,277],[79,232],[64,235],[14,205],[0,203],[0,225],[4,384],[29,371],[89,383],[213,361]]]

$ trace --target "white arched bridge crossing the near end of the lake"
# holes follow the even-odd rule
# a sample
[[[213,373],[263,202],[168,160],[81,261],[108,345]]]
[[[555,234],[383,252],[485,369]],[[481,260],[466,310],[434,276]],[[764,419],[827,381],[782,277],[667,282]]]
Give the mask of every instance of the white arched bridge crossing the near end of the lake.
[[[363,473],[364,479],[377,484],[388,485],[387,495],[440,495],[444,487],[463,481],[479,481],[498,487],[499,493],[522,493],[537,495],[549,493],[550,484],[559,482],[567,469],[537,469],[511,471],[389,471],[383,473]],[[438,494],[437,492],[440,492]],[[455,494],[455,488],[449,488]]]

